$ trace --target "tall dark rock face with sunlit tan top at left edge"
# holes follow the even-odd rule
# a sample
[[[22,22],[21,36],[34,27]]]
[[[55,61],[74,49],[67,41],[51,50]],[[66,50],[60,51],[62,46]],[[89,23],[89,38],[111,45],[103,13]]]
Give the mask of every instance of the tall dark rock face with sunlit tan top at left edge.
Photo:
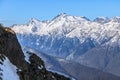
[[[9,58],[19,69],[27,69],[27,62],[15,33],[10,28],[0,26],[0,53]]]

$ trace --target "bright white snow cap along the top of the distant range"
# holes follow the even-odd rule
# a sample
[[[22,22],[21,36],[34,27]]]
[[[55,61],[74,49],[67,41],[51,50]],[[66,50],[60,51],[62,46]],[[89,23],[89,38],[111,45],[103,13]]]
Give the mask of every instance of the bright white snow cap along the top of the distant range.
[[[40,36],[53,36],[68,38],[79,38],[80,42],[84,42],[87,38],[94,39],[100,43],[105,37],[110,38],[116,32],[120,34],[120,23],[114,22],[120,17],[111,19],[105,17],[98,17],[98,19],[110,20],[105,24],[94,21],[89,21],[84,17],[70,16],[67,14],[60,14],[55,19],[49,22],[41,22],[37,19],[31,19],[27,25],[15,25],[12,29],[19,34],[37,34]],[[37,27],[37,31],[33,32],[32,28]],[[38,42],[38,41],[37,41]],[[39,43],[36,45],[39,46]]]

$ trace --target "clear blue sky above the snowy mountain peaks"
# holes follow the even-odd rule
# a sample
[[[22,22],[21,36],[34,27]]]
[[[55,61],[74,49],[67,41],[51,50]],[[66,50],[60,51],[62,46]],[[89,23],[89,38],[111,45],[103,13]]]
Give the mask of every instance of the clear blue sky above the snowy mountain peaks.
[[[60,13],[86,16],[120,16],[120,0],[0,0],[0,23],[27,23],[31,18],[51,20]]]

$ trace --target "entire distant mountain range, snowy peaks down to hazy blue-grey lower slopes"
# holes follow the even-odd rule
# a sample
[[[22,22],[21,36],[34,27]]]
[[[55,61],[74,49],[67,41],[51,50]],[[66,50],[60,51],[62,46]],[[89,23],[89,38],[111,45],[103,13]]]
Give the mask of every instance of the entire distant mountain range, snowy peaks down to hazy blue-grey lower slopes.
[[[51,21],[33,18],[27,24],[13,25],[11,28],[17,33],[23,47],[52,56],[53,61],[57,57],[71,62],[74,67],[84,65],[120,76],[120,17],[98,17],[91,21],[86,17],[63,13]],[[60,70],[57,67],[51,69],[66,72],[68,64],[59,63],[62,65],[59,64]],[[76,77],[75,74],[69,75]]]

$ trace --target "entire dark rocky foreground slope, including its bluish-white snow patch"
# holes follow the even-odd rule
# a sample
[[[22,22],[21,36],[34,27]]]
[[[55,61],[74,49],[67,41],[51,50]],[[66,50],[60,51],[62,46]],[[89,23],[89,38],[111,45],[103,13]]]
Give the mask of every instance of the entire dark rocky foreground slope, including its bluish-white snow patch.
[[[29,62],[13,30],[0,24],[0,80],[70,80],[46,70],[44,62],[31,53]]]

